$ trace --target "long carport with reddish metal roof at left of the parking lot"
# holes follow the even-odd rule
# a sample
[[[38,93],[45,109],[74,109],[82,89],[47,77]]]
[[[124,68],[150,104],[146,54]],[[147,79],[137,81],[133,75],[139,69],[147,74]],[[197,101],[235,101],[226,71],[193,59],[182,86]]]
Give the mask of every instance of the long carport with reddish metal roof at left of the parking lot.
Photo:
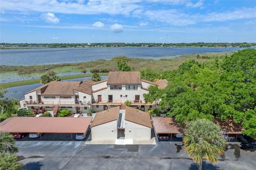
[[[87,132],[91,117],[11,117],[0,123],[8,133],[73,133]],[[42,136],[41,136],[42,139]]]

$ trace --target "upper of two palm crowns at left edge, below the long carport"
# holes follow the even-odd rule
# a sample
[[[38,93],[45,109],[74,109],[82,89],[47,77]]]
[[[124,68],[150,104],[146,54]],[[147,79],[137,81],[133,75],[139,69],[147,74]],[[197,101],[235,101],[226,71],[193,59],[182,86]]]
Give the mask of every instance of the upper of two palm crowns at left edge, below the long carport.
[[[18,148],[15,147],[15,140],[10,133],[0,132],[0,153],[15,153]]]

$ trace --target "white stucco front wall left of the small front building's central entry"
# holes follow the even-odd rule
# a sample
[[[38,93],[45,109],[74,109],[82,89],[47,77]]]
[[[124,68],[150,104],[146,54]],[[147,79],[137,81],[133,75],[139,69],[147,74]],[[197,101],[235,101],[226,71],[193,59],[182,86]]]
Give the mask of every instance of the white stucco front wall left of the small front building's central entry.
[[[92,140],[117,139],[116,120],[91,128]],[[113,131],[111,131],[113,129]]]

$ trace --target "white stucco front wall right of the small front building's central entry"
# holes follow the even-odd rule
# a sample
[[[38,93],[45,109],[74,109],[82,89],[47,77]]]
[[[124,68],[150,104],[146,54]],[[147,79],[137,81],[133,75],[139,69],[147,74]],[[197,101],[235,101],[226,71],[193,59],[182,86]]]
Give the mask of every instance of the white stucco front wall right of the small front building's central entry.
[[[150,140],[151,128],[125,120],[125,139]]]

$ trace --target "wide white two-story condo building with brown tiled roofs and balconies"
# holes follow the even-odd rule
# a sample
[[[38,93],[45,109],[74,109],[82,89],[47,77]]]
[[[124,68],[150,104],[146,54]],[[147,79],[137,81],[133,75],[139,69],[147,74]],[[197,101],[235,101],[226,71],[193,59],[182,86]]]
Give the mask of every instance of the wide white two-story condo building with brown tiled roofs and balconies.
[[[155,108],[156,103],[145,103],[143,94],[148,93],[148,87],[163,87],[163,81],[149,82],[140,77],[139,71],[111,71],[108,79],[100,82],[92,80],[53,81],[42,85],[25,94],[20,100],[21,107],[28,107],[35,112],[58,109],[70,109],[73,113],[88,113],[107,110],[116,106],[125,106],[130,101],[131,107],[147,111]],[[167,84],[167,82],[165,83]]]

